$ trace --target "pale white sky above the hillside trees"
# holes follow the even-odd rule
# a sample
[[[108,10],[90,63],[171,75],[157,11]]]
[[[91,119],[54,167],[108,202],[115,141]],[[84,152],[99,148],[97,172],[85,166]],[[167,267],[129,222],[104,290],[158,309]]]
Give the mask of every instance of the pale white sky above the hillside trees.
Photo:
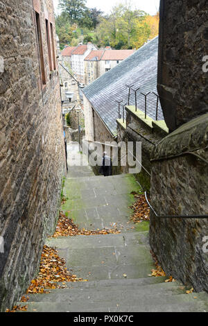
[[[58,14],[59,0],[53,0],[55,13]],[[119,0],[87,0],[87,7],[101,9],[105,13],[109,13],[112,6],[124,1]],[[155,15],[159,10],[159,0],[132,0],[137,9],[144,10],[150,15]]]

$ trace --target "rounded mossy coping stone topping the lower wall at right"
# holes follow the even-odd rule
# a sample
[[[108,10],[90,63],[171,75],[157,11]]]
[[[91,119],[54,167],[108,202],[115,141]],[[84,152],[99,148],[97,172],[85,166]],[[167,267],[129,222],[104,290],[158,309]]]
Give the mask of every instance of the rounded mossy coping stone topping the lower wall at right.
[[[184,123],[157,144],[151,159],[197,151],[207,146],[208,113]]]

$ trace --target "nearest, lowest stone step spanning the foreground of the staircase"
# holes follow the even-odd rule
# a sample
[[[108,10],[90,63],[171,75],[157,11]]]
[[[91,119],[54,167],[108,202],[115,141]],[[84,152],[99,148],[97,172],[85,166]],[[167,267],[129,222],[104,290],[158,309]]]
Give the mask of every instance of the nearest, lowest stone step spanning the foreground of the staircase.
[[[71,302],[19,302],[21,306],[27,305],[28,312],[207,312],[208,305],[205,302],[203,293],[192,293],[190,295],[164,295],[159,298],[157,295],[140,296],[131,295],[125,299],[116,300],[86,300]],[[197,299],[194,299],[197,296]],[[113,301],[113,302],[112,302]]]

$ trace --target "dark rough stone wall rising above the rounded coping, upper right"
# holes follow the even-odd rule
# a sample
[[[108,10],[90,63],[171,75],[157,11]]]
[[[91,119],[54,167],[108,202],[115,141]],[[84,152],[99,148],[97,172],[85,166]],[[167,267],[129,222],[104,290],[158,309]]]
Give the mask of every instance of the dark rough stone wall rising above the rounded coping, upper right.
[[[170,131],[208,112],[207,0],[161,0],[158,93]]]

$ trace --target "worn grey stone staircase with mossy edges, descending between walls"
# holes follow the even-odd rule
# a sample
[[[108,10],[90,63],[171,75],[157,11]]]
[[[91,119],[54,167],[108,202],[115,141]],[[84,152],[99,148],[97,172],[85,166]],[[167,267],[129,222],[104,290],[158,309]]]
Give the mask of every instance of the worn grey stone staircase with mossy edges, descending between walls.
[[[58,248],[67,269],[88,282],[68,282],[66,289],[29,295],[28,311],[208,311],[207,293],[187,294],[179,282],[150,276],[155,265],[148,245],[148,223],[135,227],[129,222],[129,206],[134,202],[131,193],[141,192],[133,175],[104,178],[85,168],[82,177],[78,170],[69,170],[73,177],[69,174],[65,182],[64,194],[69,199],[62,210],[81,228],[116,225],[121,234],[48,239],[46,244]]]

